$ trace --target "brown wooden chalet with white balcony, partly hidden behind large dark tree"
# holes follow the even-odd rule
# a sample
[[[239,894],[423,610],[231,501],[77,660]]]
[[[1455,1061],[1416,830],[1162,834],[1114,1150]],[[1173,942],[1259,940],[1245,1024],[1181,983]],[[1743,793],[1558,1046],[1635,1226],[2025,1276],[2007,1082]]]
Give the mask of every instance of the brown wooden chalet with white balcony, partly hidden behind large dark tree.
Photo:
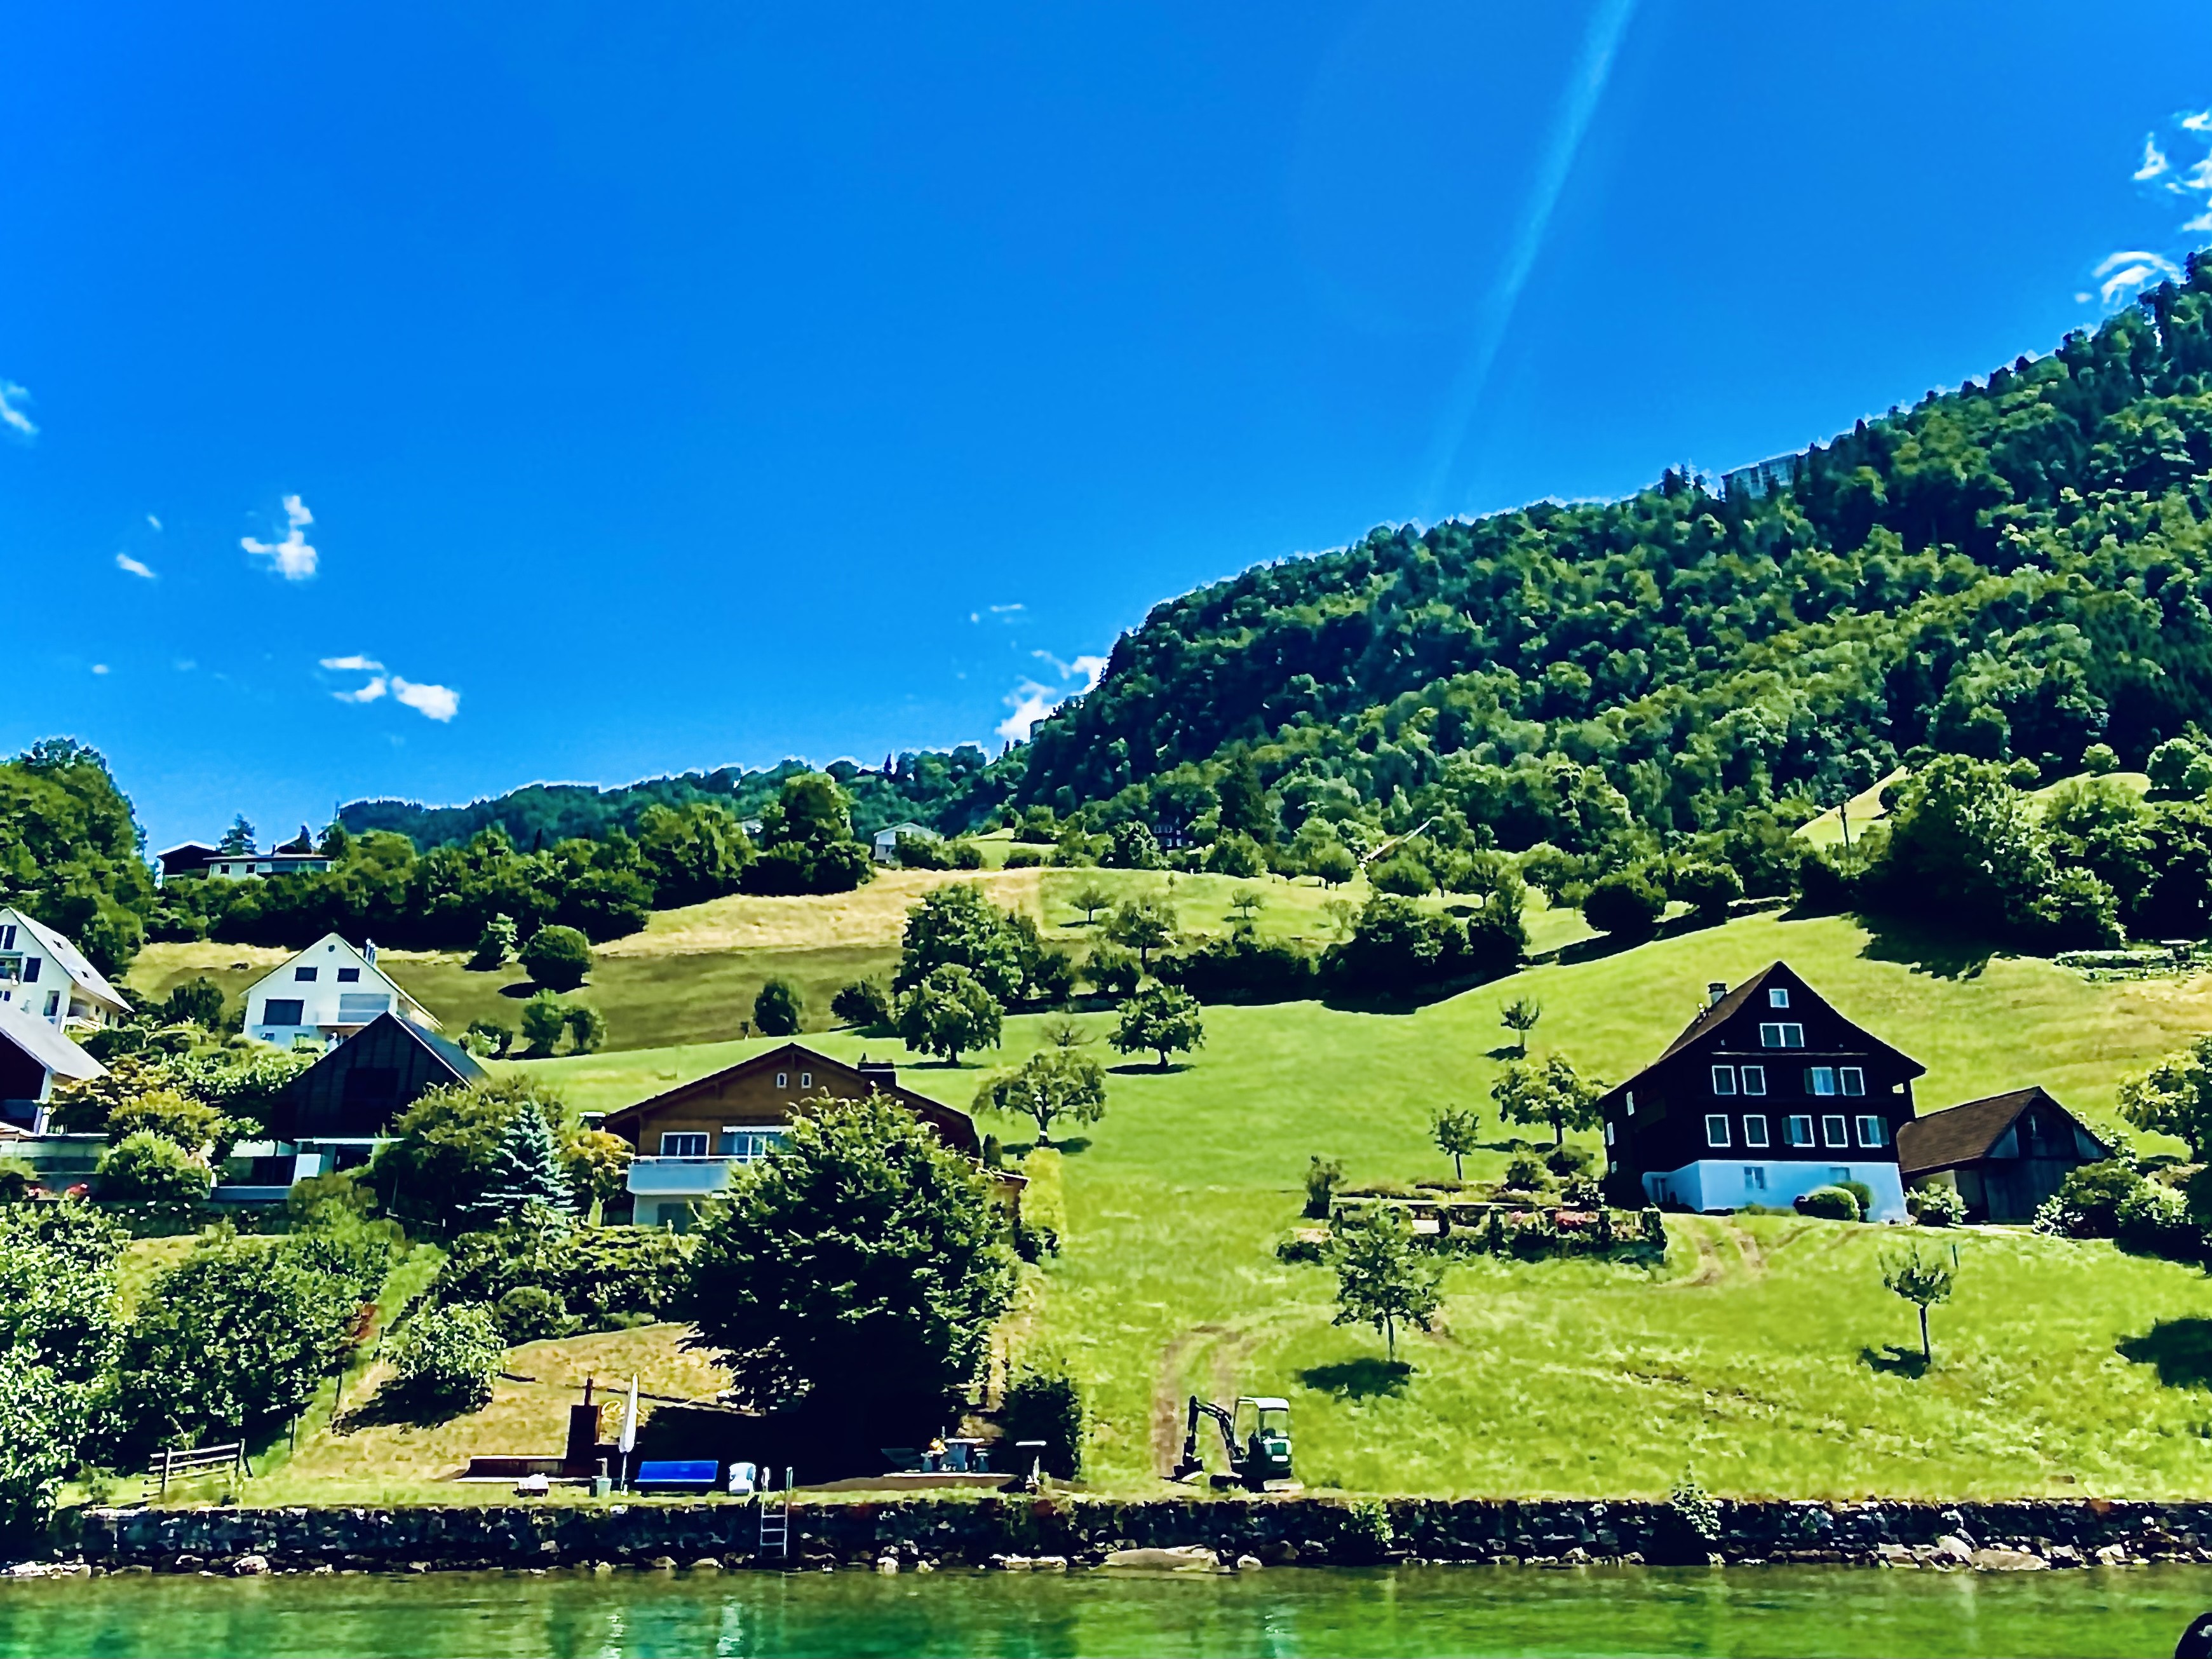
[[[978,1155],[975,1121],[898,1086],[889,1062],[843,1060],[785,1042],[664,1095],[608,1113],[599,1124],[637,1148],[630,1199],[637,1225],[688,1228],[695,1206],[721,1192],[730,1168],[752,1164],[790,1133],[805,1099],[867,1099],[878,1093],[929,1124],[947,1146]]]

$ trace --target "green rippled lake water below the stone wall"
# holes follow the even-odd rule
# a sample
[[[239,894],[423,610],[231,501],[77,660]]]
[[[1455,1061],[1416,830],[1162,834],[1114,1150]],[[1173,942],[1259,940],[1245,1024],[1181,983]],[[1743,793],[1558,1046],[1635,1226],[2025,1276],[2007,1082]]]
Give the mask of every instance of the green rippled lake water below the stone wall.
[[[2170,1655],[2212,1568],[0,1582],[0,1655]]]

